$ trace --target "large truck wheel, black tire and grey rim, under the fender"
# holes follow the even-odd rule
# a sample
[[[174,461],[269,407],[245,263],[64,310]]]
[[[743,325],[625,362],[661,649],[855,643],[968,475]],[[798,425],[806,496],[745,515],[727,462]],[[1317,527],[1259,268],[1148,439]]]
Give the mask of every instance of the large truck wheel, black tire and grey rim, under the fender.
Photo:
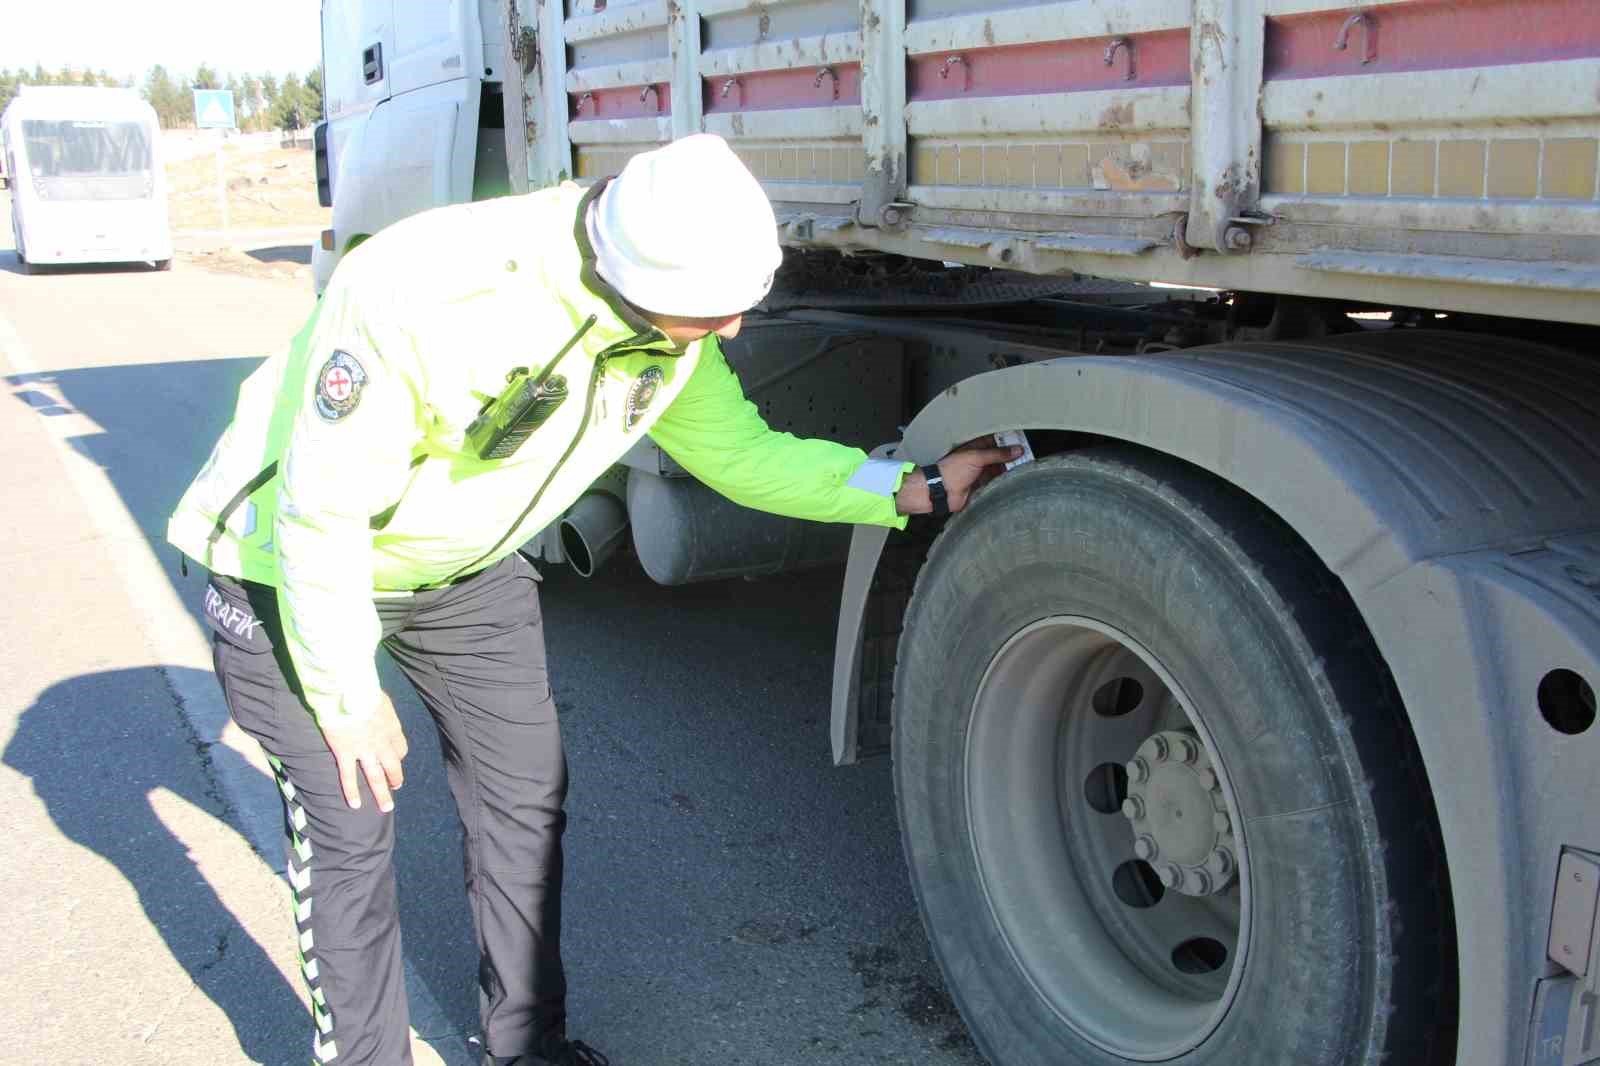
[[[1099,448],[934,543],[894,787],[950,992],[995,1066],[1443,1066],[1432,797],[1344,587],[1181,461]]]

